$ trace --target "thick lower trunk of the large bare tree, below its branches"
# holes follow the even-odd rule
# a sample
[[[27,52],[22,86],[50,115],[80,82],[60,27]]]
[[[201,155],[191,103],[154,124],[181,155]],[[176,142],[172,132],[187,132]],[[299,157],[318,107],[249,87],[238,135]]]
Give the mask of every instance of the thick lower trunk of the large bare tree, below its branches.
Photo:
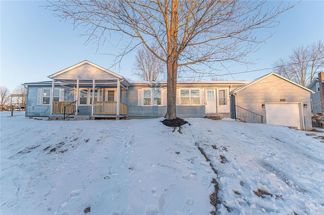
[[[167,114],[165,116],[168,120],[177,118],[176,99],[177,99],[177,72],[178,63],[170,61],[167,64],[168,80],[167,80]]]

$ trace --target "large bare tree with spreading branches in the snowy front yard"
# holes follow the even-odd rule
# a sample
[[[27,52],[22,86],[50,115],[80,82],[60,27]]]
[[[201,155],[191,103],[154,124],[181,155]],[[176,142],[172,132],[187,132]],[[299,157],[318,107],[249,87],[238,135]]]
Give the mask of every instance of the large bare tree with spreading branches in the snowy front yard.
[[[74,27],[87,27],[87,42],[111,42],[108,36],[119,33],[119,42],[128,44],[116,55],[115,64],[142,44],[165,62],[165,118],[176,119],[178,68],[179,72],[196,72],[197,65],[213,69],[214,64],[224,66],[228,61],[248,63],[245,57],[268,38],[256,37],[255,30],[275,27],[277,15],[293,7],[280,3],[265,9],[265,4],[236,0],[62,0],[49,2],[49,7],[63,20],[71,19]],[[158,45],[164,55],[159,56],[150,44]]]

